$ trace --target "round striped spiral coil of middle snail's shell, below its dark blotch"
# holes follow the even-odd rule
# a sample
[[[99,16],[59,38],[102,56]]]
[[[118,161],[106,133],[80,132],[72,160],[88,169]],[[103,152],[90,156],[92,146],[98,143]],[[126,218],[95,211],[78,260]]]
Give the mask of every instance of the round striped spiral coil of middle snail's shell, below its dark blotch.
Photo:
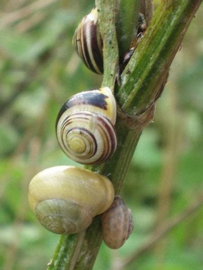
[[[62,150],[82,164],[99,164],[116,149],[116,134],[111,122],[97,113],[75,112],[61,126]]]

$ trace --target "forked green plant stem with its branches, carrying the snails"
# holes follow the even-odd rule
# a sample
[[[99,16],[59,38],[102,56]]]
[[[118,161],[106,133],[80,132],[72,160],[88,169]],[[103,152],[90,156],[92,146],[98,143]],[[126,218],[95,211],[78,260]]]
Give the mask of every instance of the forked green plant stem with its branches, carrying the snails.
[[[105,41],[103,85],[110,86],[112,90],[118,69],[115,17],[112,14],[116,2],[112,0],[96,1],[100,13],[100,28]],[[121,87],[117,89],[117,98],[122,109],[134,114],[134,112],[138,112],[138,108],[139,110],[145,109],[154,102],[157,91],[159,91],[160,85],[166,77],[189,22],[200,3],[200,0],[162,1],[143,41],[121,76]],[[111,13],[108,15],[108,19],[107,11]],[[113,19],[110,20],[110,18]],[[172,38],[172,41],[170,38]],[[161,45],[162,43],[163,45]],[[111,55],[111,52],[114,50],[110,48],[111,46],[114,46],[116,51],[113,55]],[[107,73],[107,71],[110,73]],[[87,167],[92,171],[108,176],[114,184],[116,194],[119,193],[124,182],[134,149],[143,129],[141,122],[118,114],[115,126],[118,138],[116,152],[108,162],[100,166]],[[133,129],[131,129],[132,123],[134,123]],[[48,269],[91,269],[100,243],[100,219],[97,216],[91,226],[81,234],[60,237]]]

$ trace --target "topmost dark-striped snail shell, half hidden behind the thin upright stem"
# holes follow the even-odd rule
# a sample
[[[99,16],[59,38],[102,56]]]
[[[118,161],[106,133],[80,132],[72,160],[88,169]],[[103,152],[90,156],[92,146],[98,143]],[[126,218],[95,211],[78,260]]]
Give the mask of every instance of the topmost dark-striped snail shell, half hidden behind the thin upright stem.
[[[73,45],[84,64],[93,72],[103,74],[103,41],[96,8],[83,17],[75,30]]]

